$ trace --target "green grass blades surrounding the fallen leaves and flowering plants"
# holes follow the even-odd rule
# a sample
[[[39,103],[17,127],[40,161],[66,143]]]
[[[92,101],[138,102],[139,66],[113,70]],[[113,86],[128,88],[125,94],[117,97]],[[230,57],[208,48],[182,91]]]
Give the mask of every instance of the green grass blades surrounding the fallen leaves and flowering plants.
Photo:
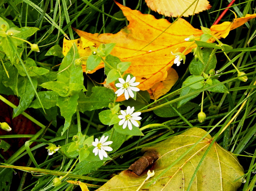
[[[57,65],[61,63],[62,58],[45,56],[45,53],[54,45],[60,45],[62,47],[64,35],[70,40],[78,38],[78,35],[74,33],[71,26],[90,33],[117,33],[122,27],[125,27],[128,24],[128,21],[124,20],[123,15],[120,13],[120,9],[112,0],[23,0],[23,2],[17,1],[19,2],[18,4],[15,4],[15,2],[16,1],[13,0],[0,2],[1,16],[13,21],[18,27],[29,26],[38,27],[40,29],[35,35],[27,39],[32,44],[35,43],[39,45],[40,53],[34,53],[25,47],[21,55],[22,60],[32,58],[36,61],[36,64],[41,67],[50,66],[52,71],[58,70]],[[143,0],[126,2],[124,0],[123,2],[119,2],[121,4],[126,3],[128,7],[137,9],[144,14],[150,13],[156,18],[163,18],[162,15],[150,11]],[[227,6],[227,3],[224,1],[211,1],[210,4],[212,5],[212,9],[203,11],[202,13],[193,16],[193,18],[190,16],[185,19],[188,22],[191,22],[191,25],[196,28],[200,28],[200,25],[210,28],[211,24],[213,24],[215,19],[221,14],[222,9]],[[246,14],[253,14],[255,6],[256,4],[254,1],[237,1],[236,5],[233,5],[231,10],[234,11],[238,17],[241,17]],[[234,14],[231,11],[228,11],[221,22],[231,21],[233,18]],[[170,18],[170,22],[172,19],[175,20],[175,18]],[[255,172],[256,169],[254,161],[256,157],[256,96],[253,89],[256,87],[254,84],[256,74],[256,56],[254,55],[254,46],[256,45],[256,40],[254,38],[255,30],[256,22],[255,19],[252,19],[245,25],[231,31],[227,38],[221,40],[223,43],[231,45],[234,50],[228,53],[228,57],[232,61],[227,60],[223,52],[216,53],[216,70],[219,71],[219,80],[226,85],[230,93],[204,94],[203,110],[207,114],[204,122],[199,123],[197,115],[200,112],[201,107],[199,106],[202,99],[201,93],[207,90],[207,88],[194,92],[200,93],[200,95],[192,100],[192,102],[197,103],[198,106],[184,115],[177,111],[177,117],[161,118],[156,116],[152,111],[158,107],[163,107],[164,105],[174,104],[184,98],[177,98],[172,94],[175,91],[180,91],[182,82],[184,82],[190,75],[189,72],[186,71],[186,67],[188,67],[192,57],[192,54],[190,53],[190,55],[187,56],[185,65],[182,65],[182,67],[174,67],[180,76],[178,82],[174,85],[171,91],[167,93],[165,98],[158,99],[157,102],[150,101],[147,110],[148,112],[143,113],[143,119],[141,120],[141,127],[149,124],[165,124],[168,127],[171,127],[174,134],[164,127],[146,129],[143,131],[145,136],[135,136],[124,142],[120,149],[110,155],[113,160],[110,160],[99,169],[91,172],[89,176],[87,176],[87,174],[83,174],[83,176],[76,175],[71,172],[70,174],[72,174],[72,176],[68,175],[65,180],[85,180],[86,183],[101,186],[104,182],[110,179],[110,176],[127,169],[133,162],[135,162],[135,160],[141,156],[140,149],[142,147],[154,145],[157,142],[178,135],[194,126],[203,128],[206,131],[211,131],[210,135],[215,138],[219,145],[237,155],[237,158],[246,173],[246,182],[242,184],[238,190],[253,190],[256,183],[256,176],[252,173]],[[253,49],[250,49],[249,47],[253,47]],[[0,57],[2,56],[0,55]],[[238,80],[232,62],[234,62],[240,71],[247,74],[249,78],[247,82]],[[85,85],[88,85],[88,87],[92,84],[89,77],[93,78],[96,82],[99,82],[104,78],[102,71],[98,71],[96,74],[88,76],[83,74],[83,76]],[[188,96],[189,95],[187,95],[187,97]],[[1,100],[4,101],[3,104],[8,104],[13,108],[15,107],[4,98],[1,98]],[[241,111],[239,111],[236,118],[232,120],[231,124],[225,127],[245,100],[247,100],[247,102],[241,108]],[[211,102],[213,105],[218,106],[219,113],[217,115],[209,115],[208,107],[210,107]],[[1,163],[16,165],[23,160],[22,156],[25,156],[26,166],[37,168],[37,172],[33,173],[33,176],[31,176],[31,169],[29,168],[25,168],[26,171],[24,172],[14,169],[14,171],[19,172],[20,176],[17,177],[17,175],[13,175],[13,179],[10,182],[10,190],[25,191],[31,190],[32,188],[36,191],[57,191],[65,189],[80,190],[78,187],[73,188],[65,181],[59,186],[52,186],[52,180],[55,177],[65,175],[65,172],[69,171],[70,167],[75,164],[75,159],[69,159],[60,153],[55,153],[54,157],[50,157],[47,156],[45,149],[49,142],[54,143],[57,146],[59,144],[64,145],[71,142],[70,139],[76,134],[73,131],[74,129],[70,129],[65,136],[61,136],[59,128],[64,124],[64,121],[60,115],[58,115],[55,122],[56,127],[46,127],[49,123],[47,120],[51,120],[50,117],[46,117],[42,109],[30,109],[30,111],[34,114],[33,117],[28,116],[26,113],[23,114],[38,124],[41,127],[40,131],[35,135],[0,135],[0,139],[4,139],[7,142],[9,139],[16,140],[17,138],[30,138],[30,140],[22,147],[14,148],[13,150],[15,152],[9,159],[4,159],[1,155]],[[85,111],[84,113],[80,113],[80,115],[74,115],[72,120],[74,123],[77,123],[77,118],[80,118],[82,132],[87,129],[86,132],[88,131],[89,135],[99,135],[104,131],[110,130],[110,128],[106,126],[103,127],[102,124],[100,124],[98,117],[96,117],[98,112],[99,111],[97,110],[93,112]],[[80,122],[80,120],[78,121]],[[80,127],[80,125],[78,125],[78,127]],[[224,132],[219,135],[221,129],[224,129],[224,127]],[[33,142],[36,142],[36,144],[29,147]],[[43,150],[45,150],[45,152]],[[45,156],[41,156],[40,158],[40,155],[38,155],[40,152],[45,153]],[[37,174],[38,172],[40,173]],[[1,168],[0,177],[3,177],[4,173],[7,173],[7,169]],[[13,171],[10,170],[8,173],[13,173]],[[10,175],[8,174],[8,176]],[[90,190],[95,190],[95,188],[90,188]]]

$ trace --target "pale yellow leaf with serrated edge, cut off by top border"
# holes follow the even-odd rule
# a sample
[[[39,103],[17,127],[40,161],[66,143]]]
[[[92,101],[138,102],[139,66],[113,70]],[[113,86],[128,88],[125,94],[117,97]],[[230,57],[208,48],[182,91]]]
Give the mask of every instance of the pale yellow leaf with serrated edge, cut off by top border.
[[[145,0],[145,2],[150,9],[161,15],[178,17],[191,5],[193,1]],[[182,16],[195,15],[210,8],[211,5],[207,0],[198,0],[198,2],[195,2]]]

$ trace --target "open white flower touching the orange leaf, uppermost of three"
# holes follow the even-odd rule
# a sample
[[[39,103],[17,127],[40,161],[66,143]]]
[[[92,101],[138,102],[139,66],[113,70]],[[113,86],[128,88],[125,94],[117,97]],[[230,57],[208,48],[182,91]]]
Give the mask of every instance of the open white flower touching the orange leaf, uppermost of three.
[[[118,80],[120,83],[115,84],[115,86],[120,87],[120,89],[115,92],[117,96],[121,96],[124,93],[124,97],[128,100],[129,95],[131,98],[134,97],[134,93],[132,91],[139,91],[139,88],[134,87],[139,85],[139,82],[135,82],[135,76],[131,79],[131,76],[128,75],[125,81],[122,78],[118,78]]]

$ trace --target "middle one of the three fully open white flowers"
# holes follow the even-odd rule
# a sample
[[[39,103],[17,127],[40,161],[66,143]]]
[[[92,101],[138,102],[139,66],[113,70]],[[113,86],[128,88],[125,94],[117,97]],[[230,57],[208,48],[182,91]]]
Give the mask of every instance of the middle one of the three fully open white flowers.
[[[139,115],[141,115],[141,112],[135,112],[135,113],[133,112],[134,112],[134,107],[131,108],[130,106],[127,107],[126,112],[121,110],[122,115],[118,116],[119,119],[122,119],[121,121],[119,121],[119,126],[123,125],[122,128],[125,129],[125,127],[128,125],[128,128],[130,130],[132,130],[132,124],[135,127],[139,127],[139,124],[137,121],[141,120],[141,117],[139,117]]]

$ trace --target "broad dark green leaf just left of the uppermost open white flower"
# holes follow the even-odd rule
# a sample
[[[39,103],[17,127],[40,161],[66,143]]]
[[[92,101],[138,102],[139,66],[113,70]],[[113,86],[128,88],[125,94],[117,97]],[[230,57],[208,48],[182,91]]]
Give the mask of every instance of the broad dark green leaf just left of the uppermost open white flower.
[[[113,90],[106,87],[95,86],[92,88],[92,91],[93,93],[90,97],[86,97],[85,95],[79,96],[79,111],[92,111],[107,107],[115,98]]]

